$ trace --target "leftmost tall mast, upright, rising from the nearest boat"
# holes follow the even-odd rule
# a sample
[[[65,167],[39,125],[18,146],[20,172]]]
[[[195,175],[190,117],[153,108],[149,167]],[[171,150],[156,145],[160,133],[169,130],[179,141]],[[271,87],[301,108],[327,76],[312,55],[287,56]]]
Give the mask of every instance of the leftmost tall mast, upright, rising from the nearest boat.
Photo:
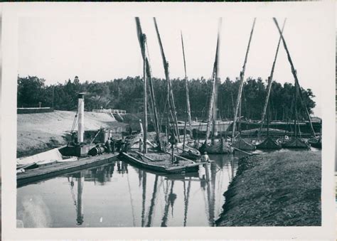
[[[141,24],[139,21],[139,17],[136,17],[136,26],[137,26],[137,36],[139,45],[141,48],[141,56],[143,58],[143,81],[144,81],[144,154],[147,153],[147,88],[146,88],[146,54],[145,54],[145,41],[146,41],[146,35],[141,31]]]

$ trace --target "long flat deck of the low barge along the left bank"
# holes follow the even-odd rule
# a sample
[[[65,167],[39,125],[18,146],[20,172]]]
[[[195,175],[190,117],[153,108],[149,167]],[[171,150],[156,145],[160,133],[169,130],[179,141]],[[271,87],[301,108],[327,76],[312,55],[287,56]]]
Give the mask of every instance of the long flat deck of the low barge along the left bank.
[[[82,168],[88,168],[91,166],[97,166],[101,164],[113,161],[118,156],[118,153],[114,154],[102,154],[100,156],[89,156],[79,161],[70,161],[64,163],[57,163],[50,166],[41,166],[39,168],[27,170],[23,173],[16,174],[17,186],[23,186],[34,181],[41,181],[46,178],[58,176],[60,174],[77,171]]]

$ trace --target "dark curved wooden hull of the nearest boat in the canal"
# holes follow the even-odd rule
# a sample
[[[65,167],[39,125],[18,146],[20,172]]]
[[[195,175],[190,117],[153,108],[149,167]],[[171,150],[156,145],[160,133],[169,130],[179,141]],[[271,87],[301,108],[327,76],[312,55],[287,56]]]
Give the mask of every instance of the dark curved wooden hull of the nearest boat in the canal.
[[[132,154],[127,154],[122,152],[119,154],[120,157],[129,162],[130,164],[134,164],[135,166],[139,166],[141,168],[148,169],[150,171],[156,171],[158,173],[188,173],[188,172],[198,172],[199,165],[203,163],[191,163],[189,164],[171,164],[171,165],[159,165],[156,164],[156,161],[153,163],[143,161]]]

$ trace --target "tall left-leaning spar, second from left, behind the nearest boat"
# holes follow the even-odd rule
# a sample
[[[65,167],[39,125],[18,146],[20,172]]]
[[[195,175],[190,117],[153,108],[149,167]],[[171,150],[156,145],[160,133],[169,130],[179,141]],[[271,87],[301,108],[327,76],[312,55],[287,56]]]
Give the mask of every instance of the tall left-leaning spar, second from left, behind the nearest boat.
[[[174,105],[173,91],[172,91],[172,87],[171,87],[171,80],[170,80],[170,77],[169,77],[169,62],[167,62],[166,57],[165,57],[164,48],[163,48],[163,44],[161,43],[161,37],[160,37],[160,34],[159,34],[159,29],[158,29],[158,25],[157,25],[157,22],[156,22],[156,18],[154,18],[154,27],[156,28],[158,42],[159,42],[159,46],[160,46],[160,50],[161,50],[161,58],[163,59],[165,77],[166,77],[166,81],[168,82],[169,107],[171,109],[171,114],[173,116],[173,122],[174,122],[175,129],[176,129],[177,139],[180,142],[179,130],[178,130],[178,119],[177,119],[177,116],[176,116],[176,106]]]

